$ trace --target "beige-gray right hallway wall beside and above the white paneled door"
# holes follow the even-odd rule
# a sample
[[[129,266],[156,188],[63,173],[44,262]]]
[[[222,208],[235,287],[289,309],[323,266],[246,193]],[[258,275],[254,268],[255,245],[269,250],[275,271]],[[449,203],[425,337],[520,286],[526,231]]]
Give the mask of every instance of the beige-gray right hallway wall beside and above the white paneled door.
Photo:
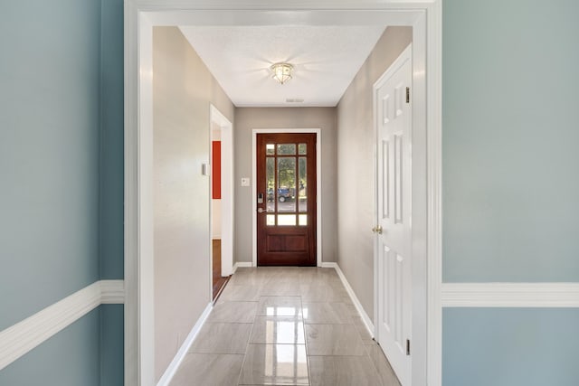
[[[374,314],[374,113],[372,87],[412,42],[412,28],[388,27],[337,105],[338,265]]]

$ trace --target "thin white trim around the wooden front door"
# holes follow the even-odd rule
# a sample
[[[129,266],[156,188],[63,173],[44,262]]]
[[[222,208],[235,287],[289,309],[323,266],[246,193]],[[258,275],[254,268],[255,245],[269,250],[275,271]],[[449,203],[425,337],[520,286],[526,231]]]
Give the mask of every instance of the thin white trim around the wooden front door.
[[[257,267],[257,135],[264,133],[316,134],[316,266],[322,266],[322,131],[319,128],[252,129],[252,267]]]

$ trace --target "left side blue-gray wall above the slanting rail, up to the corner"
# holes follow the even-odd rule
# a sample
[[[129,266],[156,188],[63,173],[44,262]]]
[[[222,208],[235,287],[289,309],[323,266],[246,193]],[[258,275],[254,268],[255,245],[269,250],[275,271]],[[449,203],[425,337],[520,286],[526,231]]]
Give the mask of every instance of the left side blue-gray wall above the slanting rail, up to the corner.
[[[99,279],[100,2],[3,4],[0,47],[5,329]]]

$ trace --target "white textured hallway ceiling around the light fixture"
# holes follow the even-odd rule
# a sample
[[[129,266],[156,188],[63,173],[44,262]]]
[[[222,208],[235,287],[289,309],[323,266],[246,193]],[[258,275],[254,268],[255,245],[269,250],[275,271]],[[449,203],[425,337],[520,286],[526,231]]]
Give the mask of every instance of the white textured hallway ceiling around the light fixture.
[[[385,26],[180,28],[235,106],[297,107],[336,106]],[[278,61],[294,66],[284,85],[271,79]]]

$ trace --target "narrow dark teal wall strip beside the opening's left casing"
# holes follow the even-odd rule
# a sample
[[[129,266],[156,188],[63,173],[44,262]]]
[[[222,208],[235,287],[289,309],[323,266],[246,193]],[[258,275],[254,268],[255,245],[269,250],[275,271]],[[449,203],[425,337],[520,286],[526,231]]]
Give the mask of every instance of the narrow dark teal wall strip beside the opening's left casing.
[[[100,278],[124,277],[123,0],[101,0]],[[124,309],[100,306],[100,385],[124,383]]]

